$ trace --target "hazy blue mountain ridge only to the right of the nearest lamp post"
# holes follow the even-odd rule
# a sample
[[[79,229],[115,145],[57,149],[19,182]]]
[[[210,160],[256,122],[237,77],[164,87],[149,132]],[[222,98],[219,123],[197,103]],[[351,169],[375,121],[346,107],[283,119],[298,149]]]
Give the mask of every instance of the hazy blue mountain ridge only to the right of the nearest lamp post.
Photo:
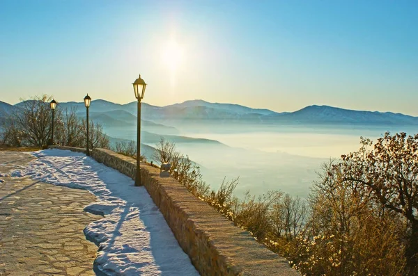
[[[200,105],[201,104],[201,105]],[[294,112],[268,110],[229,104],[211,104],[201,100],[171,106],[147,106],[143,115],[148,120],[215,120],[219,122],[260,122],[278,124],[418,124],[418,117],[401,113],[354,111],[332,106],[307,106]]]

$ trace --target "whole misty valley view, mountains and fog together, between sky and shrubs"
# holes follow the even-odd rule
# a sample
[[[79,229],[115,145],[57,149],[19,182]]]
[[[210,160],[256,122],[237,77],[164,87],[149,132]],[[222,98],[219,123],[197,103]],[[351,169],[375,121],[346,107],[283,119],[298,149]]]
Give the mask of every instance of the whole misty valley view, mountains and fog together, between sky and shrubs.
[[[2,102],[0,115],[20,104]],[[59,108],[86,115],[84,103],[60,103]],[[136,140],[136,114],[137,102],[121,105],[98,99],[90,108],[91,120],[102,124],[112,144]],[[418,132],[417,117],[330,106],[276,113],[195,100],[162,107],[142,104],[141,119],[141,154],[149,161],[164,136],[200,166],[212,188],[219,188],[224,178],[240,177],[237,195],[281,190],[306,197],[320,165],[359,149],[360,136],[376,140],[385,131]]]

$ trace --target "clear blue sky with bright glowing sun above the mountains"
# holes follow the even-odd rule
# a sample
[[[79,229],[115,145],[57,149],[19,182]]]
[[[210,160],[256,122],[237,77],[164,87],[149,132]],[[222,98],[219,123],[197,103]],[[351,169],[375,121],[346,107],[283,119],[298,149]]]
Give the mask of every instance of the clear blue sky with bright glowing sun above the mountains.
[[[418,115],[418,1],[0,0],[0,100]]]

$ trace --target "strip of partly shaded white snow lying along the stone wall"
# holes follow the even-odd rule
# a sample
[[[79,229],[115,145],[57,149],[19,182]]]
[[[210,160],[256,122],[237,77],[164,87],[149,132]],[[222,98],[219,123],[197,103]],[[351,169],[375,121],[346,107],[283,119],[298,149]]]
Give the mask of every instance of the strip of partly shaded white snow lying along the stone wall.
[[[164,217],[144,187],[77,152],[47,149],[10,172],[46,183],[82,188],[98,197],[86,211],[104,218],[84,229],[99,244],[98,268],[107,275],[199,275],[178,245]]]

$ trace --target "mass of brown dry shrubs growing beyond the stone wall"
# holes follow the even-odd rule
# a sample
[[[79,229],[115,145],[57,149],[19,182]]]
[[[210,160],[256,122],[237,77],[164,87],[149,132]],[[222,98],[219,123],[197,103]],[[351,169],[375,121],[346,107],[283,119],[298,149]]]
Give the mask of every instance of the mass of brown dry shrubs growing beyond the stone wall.
[[[272,191],[233,193],[238,178],[210,190],[199,167],[176,146],[157,145],[155,161],[171,162],[176,178],[302,275],[417,275],[413,253],[417,216],[418,136],[362,139],[358,152],[323,165],[307,201]],[[417,167],[417,168],[415,168]],[[412,251],[411,251],[412,250]]]

